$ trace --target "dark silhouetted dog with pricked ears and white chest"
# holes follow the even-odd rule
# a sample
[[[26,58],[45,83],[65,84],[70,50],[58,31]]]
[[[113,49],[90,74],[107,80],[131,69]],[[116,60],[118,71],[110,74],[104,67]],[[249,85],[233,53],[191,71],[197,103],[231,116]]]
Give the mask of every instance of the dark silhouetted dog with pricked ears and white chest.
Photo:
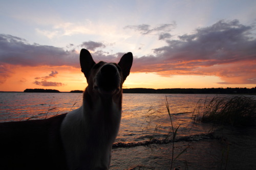
[[[0,124],[0,169],[109,169],[112,144],[119,131],[122,84],[133,54],[118,64],[95,63],[80,52],[88,86],[82,106],[48,119]]]

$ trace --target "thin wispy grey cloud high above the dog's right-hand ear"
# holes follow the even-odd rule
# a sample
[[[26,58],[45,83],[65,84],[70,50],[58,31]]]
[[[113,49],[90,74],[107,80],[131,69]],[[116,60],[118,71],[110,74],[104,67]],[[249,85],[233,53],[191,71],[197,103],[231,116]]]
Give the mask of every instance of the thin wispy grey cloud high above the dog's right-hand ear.
[[[137,25],[137,26],[125,26],[124,29],[132,29],[135,31],[139,31],[140,34],[150,34],[150,33],[159,33],[159,32],[169,32],[172,29],[176,28],[176,22],[173,23],[165,23],[162,25],[158,25],[151,29],[150,25]]]

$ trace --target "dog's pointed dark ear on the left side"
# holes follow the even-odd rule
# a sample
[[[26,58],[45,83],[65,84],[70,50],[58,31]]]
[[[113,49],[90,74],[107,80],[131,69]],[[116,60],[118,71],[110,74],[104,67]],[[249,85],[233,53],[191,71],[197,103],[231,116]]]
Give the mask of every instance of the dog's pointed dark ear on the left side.
[[[91,68],[94,66],[95,62],[93,61],[92,55],[90,52],[84,48],[82,48],[80,52],[80,65],[81,71],[83,72],[84,76],[88,78],[89,72]]]

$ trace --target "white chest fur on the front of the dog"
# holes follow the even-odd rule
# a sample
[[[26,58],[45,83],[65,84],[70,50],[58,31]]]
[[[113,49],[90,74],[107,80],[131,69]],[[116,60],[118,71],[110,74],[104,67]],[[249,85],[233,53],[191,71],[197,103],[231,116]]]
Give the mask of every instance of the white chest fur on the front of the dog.
[[[121,110],[115,103],[106,112],[100,101],[94,111],[82,106],[68,113],[61,138],[70,169],[108,169],[112,144],[119,130]],[[107,117],[107,118],[106,118]]]

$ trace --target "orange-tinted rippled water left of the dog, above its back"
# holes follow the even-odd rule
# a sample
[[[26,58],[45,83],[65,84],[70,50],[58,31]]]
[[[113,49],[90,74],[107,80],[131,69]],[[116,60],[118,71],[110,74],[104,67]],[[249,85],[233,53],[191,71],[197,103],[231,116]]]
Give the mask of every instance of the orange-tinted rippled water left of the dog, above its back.
[[[67,113],[81,105],[82,94],[0,93],[0,99],[0,122],[10,122]]]

